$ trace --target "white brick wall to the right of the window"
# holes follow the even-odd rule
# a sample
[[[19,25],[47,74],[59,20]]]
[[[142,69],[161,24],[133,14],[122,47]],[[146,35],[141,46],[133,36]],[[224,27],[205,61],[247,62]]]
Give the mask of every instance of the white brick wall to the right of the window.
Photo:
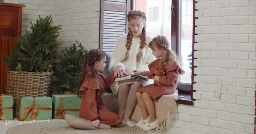
[[[170,134],[253,134],[256,0],[196,1],[196,101],[179,105]]]

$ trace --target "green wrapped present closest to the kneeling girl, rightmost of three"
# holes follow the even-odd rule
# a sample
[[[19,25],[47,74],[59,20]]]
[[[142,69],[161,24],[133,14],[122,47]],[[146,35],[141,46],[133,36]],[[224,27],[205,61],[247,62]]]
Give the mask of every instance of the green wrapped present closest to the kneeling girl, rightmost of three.
[[[65,114],[79,116],[81,98],[77,95],[53,95],[53,115],[55,119],[64,119]]]

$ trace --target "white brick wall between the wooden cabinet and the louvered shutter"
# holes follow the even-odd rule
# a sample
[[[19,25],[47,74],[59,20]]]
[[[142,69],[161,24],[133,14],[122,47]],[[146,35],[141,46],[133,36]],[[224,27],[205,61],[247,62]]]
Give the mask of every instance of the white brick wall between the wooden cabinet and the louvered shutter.
[[[38,15],[52,15],[54,25],[61,25],[60,49],[79,41],[85,49],[99,49],[100,0],[18,0],[24,4],[22,35],[30,30]]]

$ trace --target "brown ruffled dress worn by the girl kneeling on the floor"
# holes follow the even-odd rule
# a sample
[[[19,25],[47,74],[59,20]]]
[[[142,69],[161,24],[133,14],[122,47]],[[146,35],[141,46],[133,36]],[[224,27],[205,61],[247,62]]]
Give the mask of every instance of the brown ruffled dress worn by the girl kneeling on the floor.
[[[112,75],[106,78],[99,72],[104,87],[109,87],[115,80],[115,76]],[[83,119],[94,121],[99,119],[101,123],[108,125],[116,125],[119,122],[119,116],[116,113],[108,111],[103,105],[101,93],[99,93],[99,82],[96,78],[91,77],[88,73],[85,75],[85,81],[79,90],[82,94],[82,103],[79,110],[79,115]]]

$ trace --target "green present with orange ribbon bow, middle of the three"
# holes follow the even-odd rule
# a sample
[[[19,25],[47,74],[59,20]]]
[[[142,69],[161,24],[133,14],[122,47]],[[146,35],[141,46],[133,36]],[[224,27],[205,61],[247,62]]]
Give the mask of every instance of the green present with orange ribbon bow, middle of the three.
[[[51,117],[50,97],[21,97],[20,118],[17,120],[51,120]]]

